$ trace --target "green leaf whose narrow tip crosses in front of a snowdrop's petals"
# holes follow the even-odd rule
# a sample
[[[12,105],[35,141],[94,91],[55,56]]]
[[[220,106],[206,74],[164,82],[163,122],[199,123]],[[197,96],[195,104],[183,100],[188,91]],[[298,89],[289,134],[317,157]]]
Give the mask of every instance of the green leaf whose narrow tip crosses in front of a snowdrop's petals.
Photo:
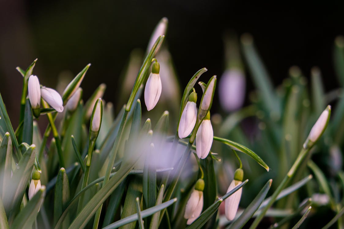
[[[220,204],[227,199],[230,195],[238,191],[241,187],[243,187],[248,180],[245,180],[243,183],[239,184],[235,188],[233,188],[231,191],[226,193],[226,195],[218,198],[218,200],[212,204],[210,207],[208,207],[203,213],[198,217],[187,229],[198,229],[201,228],[212,216],[213,214],[217,211],[219,208]]]

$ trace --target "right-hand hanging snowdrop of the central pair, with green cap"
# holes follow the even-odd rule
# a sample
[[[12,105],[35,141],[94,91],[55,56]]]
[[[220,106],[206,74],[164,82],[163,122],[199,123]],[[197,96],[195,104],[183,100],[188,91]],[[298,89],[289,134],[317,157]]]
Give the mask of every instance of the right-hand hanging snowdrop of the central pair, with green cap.
[[[210,122],[210,113],[208,112],[196,133],[196,153],[198,158],[204,159],[208,156],[213,144],[213,137],[214,132]]]

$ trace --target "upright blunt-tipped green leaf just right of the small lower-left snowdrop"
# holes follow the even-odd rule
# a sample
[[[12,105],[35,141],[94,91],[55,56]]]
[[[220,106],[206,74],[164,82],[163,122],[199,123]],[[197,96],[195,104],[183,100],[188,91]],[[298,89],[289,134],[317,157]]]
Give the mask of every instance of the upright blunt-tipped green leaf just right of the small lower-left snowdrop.
[[[55,185],[55,197],[54,197],[54,225],[62,215],[63,211],[67,207],[69,201],[69,181],[66,170],[61,168],[58,172],[56,185]],[[68,217],[64,220],[62,228],[67,228],[69,224]]]

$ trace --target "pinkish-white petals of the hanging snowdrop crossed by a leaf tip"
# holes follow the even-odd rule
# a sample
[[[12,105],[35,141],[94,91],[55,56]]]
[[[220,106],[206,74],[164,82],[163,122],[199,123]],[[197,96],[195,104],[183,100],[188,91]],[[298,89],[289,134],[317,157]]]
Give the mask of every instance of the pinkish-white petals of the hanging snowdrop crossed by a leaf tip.
[[[241,181],[235,181],[233,180],[232,183],[230,183],[227,193],[235,188],[237,185],[241,184]],[[240,198],[241,198],[241,192],[243,188],[240,188],[238,191],[230,195],[226,200],[225,200],[225,215],[228,220],[233,220],[239,206]]]

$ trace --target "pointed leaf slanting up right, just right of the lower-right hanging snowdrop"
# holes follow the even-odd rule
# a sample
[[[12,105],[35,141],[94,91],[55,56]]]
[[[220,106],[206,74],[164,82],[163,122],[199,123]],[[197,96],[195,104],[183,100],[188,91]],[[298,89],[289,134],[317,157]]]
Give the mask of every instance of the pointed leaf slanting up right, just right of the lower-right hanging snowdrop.
[[[266,194],[271,187],[272,180],[269,180],[260,190],[254,200],[247,206],[244,212],[229,226],[229,228],[242,228],[247,221],[253,216],[260,204],[264,201]]]

